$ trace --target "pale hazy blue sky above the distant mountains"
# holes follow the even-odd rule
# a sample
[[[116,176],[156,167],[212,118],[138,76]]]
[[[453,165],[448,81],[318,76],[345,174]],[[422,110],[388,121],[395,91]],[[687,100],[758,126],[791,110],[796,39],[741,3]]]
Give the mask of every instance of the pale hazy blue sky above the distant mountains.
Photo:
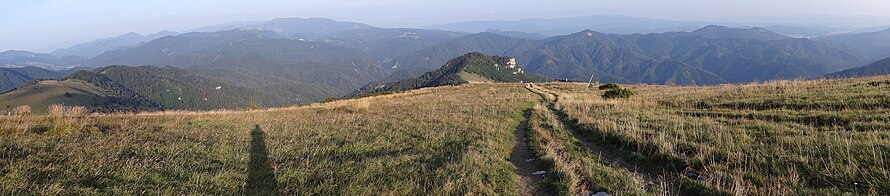
[[[384,27],[468,20],[629,15],[675,20],[890,15],[887,0],[0,0],[0,51],[47,52],[127,32],[327,17]]]

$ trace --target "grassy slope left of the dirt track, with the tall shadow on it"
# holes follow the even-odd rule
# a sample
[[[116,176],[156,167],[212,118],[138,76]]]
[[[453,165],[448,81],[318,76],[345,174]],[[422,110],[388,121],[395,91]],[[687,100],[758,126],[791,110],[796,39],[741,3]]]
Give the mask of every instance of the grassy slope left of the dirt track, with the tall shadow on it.
[[[512,194],[532,101],[471,84],[255,112],[0,117],[0,192]]]

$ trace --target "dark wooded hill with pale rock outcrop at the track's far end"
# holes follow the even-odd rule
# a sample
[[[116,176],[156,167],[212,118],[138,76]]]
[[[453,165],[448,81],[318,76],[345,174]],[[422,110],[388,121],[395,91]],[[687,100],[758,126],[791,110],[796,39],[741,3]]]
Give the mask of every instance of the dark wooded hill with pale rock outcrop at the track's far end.
[[[397,82],[371,84],[347,97],[364,96],[375,93],[405,91],[424,87],[460,85],[485,82],[542,82],[545,78],[525,73],[516,64],[516,59],[502,56],[487,56],[471,52],[453,58],[441,68],[427,72],[420,77]]]

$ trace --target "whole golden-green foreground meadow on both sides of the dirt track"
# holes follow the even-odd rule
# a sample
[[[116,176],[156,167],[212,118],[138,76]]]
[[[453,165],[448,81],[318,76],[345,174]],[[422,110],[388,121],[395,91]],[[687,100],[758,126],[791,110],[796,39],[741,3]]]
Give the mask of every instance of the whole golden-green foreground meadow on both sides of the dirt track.
[[[597,86],[473,83],[252,111],[3,116],[0,192],[890,191],[890,76],[620,85],[635,92],[627,99],[604,99]],[[538,183],[511,159],[523,141],[544,171]]]

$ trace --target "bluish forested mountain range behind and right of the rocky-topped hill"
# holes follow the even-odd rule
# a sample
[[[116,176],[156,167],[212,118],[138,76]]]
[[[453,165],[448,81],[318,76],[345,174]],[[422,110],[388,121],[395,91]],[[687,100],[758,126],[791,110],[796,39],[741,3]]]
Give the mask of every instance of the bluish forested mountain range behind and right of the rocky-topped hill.
[[[585,30],[542,40],[492,33],[467,35],[385,67],[430,67],[466,52],[515,56],[529,72],[555,79],[713,85],[810,78],[859,66],[866,58],[842,47],[762,28],[707,26],[692,32],[603,34]]]

